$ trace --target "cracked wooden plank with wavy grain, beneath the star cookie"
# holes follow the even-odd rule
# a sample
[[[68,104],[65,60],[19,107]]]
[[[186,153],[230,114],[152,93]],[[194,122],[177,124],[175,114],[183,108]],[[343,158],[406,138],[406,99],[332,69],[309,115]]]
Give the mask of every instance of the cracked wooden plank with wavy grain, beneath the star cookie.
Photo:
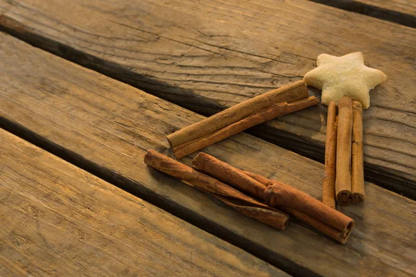
[[[320,53],[362,51],[369,66],[388,75],[364,113],[365,175],[416,198],[415,29],[292,0],[0,6],[8,6],[3,30],[200,114],[300,80]],[[320,105],[251,132],[323,161],[325,118]]]

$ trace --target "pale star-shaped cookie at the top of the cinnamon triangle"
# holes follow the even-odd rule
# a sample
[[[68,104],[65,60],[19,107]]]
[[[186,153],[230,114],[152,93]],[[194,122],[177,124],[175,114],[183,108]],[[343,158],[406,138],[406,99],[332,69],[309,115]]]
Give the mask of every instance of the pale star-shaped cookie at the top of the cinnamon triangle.
[[[322,89],[322,104],[338,101],[343,96],[360,101],[363,108],[370,107],[370,89],[384,82],[385,74],[364,65],[361,52],[349,53],[342,57],[328,54],[318,56],[316,69],[304,75],[304,82]]]

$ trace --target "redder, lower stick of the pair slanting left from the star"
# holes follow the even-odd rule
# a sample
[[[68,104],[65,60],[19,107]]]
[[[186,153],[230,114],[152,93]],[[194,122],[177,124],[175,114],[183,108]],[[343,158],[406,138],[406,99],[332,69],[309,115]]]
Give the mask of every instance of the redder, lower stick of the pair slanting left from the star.
[[[311,96],[309,98],[291,102],[289,104],[287,102],[274,104],[268,109],[260,111],[257,114],[252,114],[251,116],[237,121],[232,125],[224,127],[223,129],[219,129],[214,133],[207,134],[206,136],[202,136],[202,138],[189,141],[188,143],[184,143],[182,145],[178,145],[177,147],[173,148],[173,152],[175,153],[175,157],[180,159],[187,156],[188,154],[205,148],[208,145],[222,141],[223,139],[227,139],[229,136],[234,134],[238,134],[239,132],[253,127],[254,125],[259,125],[278,116],[284,116],[285,114],[290,114],[293,111],[299,111],[301,109],[317,105],[318,103],[318,98]]]

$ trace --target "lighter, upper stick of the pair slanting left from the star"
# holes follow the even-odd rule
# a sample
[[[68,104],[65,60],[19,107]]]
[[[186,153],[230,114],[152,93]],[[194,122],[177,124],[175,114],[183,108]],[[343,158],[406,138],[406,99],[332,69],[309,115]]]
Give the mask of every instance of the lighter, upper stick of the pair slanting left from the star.
[[[169,134],[166,138],[171,144],[171,148],[176,148],[184,143],[189,143],[190,141],[212,134],[224,127],[243,120],[252,114],[257,114],[259,111],[268,109],[275,103],[294,102],[307,98],[308,96],[308,90],[306,89],[304,82],[293,82],[292,84],[263,93],[229,107],[224,111],[220,111],[218,114],[214,114],[214,116],[210,116],[196,124],[184,127],[173,134]]]

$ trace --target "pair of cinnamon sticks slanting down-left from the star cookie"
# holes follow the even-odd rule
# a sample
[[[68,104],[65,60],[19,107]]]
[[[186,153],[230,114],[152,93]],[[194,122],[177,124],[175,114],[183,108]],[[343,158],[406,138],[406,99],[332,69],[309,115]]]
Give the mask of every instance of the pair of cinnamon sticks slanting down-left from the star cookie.
[[[317,105],[302,81],[293,82],[220,111],[166,136],[177,159],[268,120]]]

